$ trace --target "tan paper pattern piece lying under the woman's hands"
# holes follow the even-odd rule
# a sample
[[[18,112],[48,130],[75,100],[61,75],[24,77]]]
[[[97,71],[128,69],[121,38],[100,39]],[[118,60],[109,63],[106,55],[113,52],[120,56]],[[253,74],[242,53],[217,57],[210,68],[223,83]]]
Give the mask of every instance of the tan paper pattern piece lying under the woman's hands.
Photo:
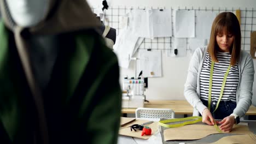
[[[164,140],[198,140],[219,132],[213,125],[191,124],[164,130]],[[252,134],[247,125],[235,125],[230,134]]]

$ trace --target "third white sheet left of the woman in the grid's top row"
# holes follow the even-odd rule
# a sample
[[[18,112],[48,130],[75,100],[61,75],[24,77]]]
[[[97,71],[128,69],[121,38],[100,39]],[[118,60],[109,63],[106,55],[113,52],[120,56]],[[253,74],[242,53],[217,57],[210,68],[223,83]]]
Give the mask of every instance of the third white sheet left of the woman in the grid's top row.
[[[153,37],[172,37],[172,10],[153,9],[152,11],[149,20],[153,23]]]

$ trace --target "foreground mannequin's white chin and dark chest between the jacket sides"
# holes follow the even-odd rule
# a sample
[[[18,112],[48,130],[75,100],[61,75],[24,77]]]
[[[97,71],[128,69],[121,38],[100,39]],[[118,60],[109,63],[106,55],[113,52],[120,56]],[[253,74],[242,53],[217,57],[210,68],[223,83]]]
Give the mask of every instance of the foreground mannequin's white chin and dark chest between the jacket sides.
[[[50,0],[5,1],[15,25],[27,28],[38,25],[44,19],[50,4]],[[59,53],[59,49],[55,48],[58,42],[55,37],[39,35],[31,37],[29,40],[32,47],[28,50],[32,71],[40,89],[44,90]],[[41,73],[42,70],[44,73]]]

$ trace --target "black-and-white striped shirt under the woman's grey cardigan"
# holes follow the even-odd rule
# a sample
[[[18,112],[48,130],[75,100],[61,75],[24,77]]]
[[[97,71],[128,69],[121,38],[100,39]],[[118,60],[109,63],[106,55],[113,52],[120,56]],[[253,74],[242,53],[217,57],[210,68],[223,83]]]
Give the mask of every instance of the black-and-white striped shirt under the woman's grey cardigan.
[[[212,101],[218,101],[220,89],[226,70],[230,64],[231,55],[229,52],[217,52],[219,63],[214,63],[213,79],[212,79]],[[200,94],[202,100],[208,100],[209,80],[211,71],[211,62],[209,53],[207,52],[205,61],[202,65],[200,74]],[[236,103],[236,89],[239,81],[239,73],[237,64],[230,68],[229,74],[226,78],[226,84],[222,95],[222,101],[231,100]]]

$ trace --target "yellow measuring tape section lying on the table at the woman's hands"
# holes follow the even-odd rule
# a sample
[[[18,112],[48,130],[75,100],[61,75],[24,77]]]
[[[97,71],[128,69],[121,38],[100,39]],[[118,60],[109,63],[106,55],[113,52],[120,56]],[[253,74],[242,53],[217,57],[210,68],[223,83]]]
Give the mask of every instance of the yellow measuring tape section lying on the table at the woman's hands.
[[[176,122],[179,122],[179,123],[176,123]],[[177,128],[187,124],[194,124],[197,122],[202,122],[202,117],[193,116],[193,117],[185,117],[185,118],[166,119],[166,120],[159,121],[159,125],[166,128]],[[174,124],[166,124],[166,123],[174,123]],[[219,129],[218,125],[216,124],[215,120],[214,120],[214,127],[219,133],[222,133],[222,131]]]

